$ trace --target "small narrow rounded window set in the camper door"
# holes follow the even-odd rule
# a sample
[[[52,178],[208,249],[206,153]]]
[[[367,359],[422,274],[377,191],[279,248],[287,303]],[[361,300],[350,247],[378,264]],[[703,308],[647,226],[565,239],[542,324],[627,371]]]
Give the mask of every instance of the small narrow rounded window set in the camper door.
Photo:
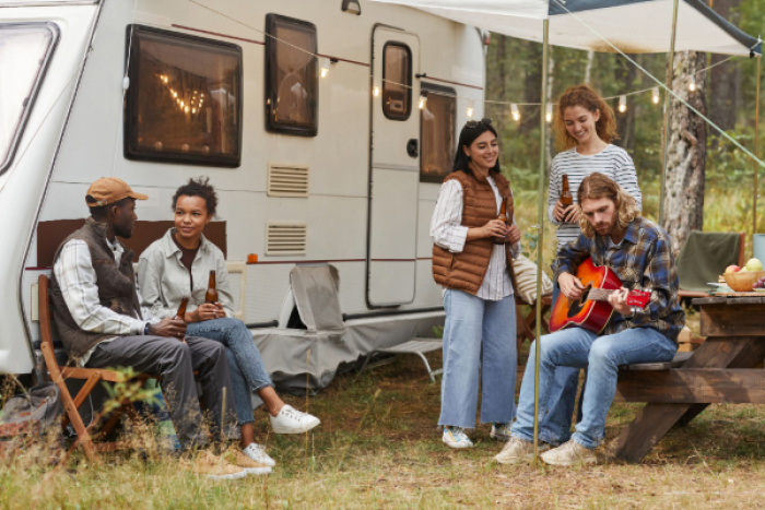
[[[400,43],[382,50],[382,112],[391,120],[407,120],[412,112],[412,52]]]

